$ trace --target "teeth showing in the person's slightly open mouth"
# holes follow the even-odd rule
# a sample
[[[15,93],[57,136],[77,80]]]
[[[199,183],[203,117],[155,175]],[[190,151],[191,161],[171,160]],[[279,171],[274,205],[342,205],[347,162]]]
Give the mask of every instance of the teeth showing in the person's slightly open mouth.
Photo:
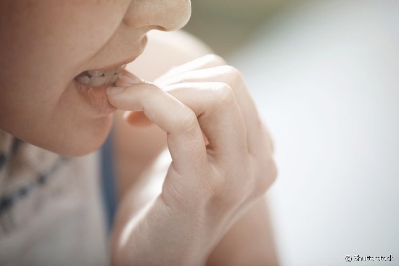
[[[91,87],[98,87],[104,84],[112,84],[122,76],[124,66],[118,66],[108,70],[89,70],[76,77],[76,81]]]

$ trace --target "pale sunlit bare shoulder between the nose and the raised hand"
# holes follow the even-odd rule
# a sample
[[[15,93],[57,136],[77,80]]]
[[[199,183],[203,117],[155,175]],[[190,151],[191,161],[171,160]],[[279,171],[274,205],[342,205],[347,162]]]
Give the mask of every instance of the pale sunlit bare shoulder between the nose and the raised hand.
[[[212,53],[200,39],[184,31],[150,31],[144,53],[127,70],[147,80],[154,80],[170,68]]]

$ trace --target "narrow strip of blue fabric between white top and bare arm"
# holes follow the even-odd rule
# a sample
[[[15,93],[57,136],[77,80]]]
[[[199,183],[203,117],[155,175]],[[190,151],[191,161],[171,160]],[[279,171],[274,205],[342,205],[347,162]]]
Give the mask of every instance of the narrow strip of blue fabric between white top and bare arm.
[[[107,217],[108,231],[112,228],[115,211],[116,211],[116,182],[112,152],[112,135],[111,131],[100,148],[100,170],[101,170],[101,189],[104,200],[105,213]]]

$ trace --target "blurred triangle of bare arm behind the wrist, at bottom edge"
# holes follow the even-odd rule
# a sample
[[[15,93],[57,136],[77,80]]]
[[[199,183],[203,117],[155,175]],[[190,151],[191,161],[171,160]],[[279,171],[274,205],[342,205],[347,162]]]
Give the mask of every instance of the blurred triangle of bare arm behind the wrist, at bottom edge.
[[[278,265],[267,204],[260,198],[213,250],[208,266]]]

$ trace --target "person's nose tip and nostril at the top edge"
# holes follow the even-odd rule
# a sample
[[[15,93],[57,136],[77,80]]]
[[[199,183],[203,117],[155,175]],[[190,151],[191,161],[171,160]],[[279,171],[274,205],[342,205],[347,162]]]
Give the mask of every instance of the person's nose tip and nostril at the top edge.
[[[133,0],[122,22],[146,30],[174,31],[182,28],[190,16],[190,0]]]

